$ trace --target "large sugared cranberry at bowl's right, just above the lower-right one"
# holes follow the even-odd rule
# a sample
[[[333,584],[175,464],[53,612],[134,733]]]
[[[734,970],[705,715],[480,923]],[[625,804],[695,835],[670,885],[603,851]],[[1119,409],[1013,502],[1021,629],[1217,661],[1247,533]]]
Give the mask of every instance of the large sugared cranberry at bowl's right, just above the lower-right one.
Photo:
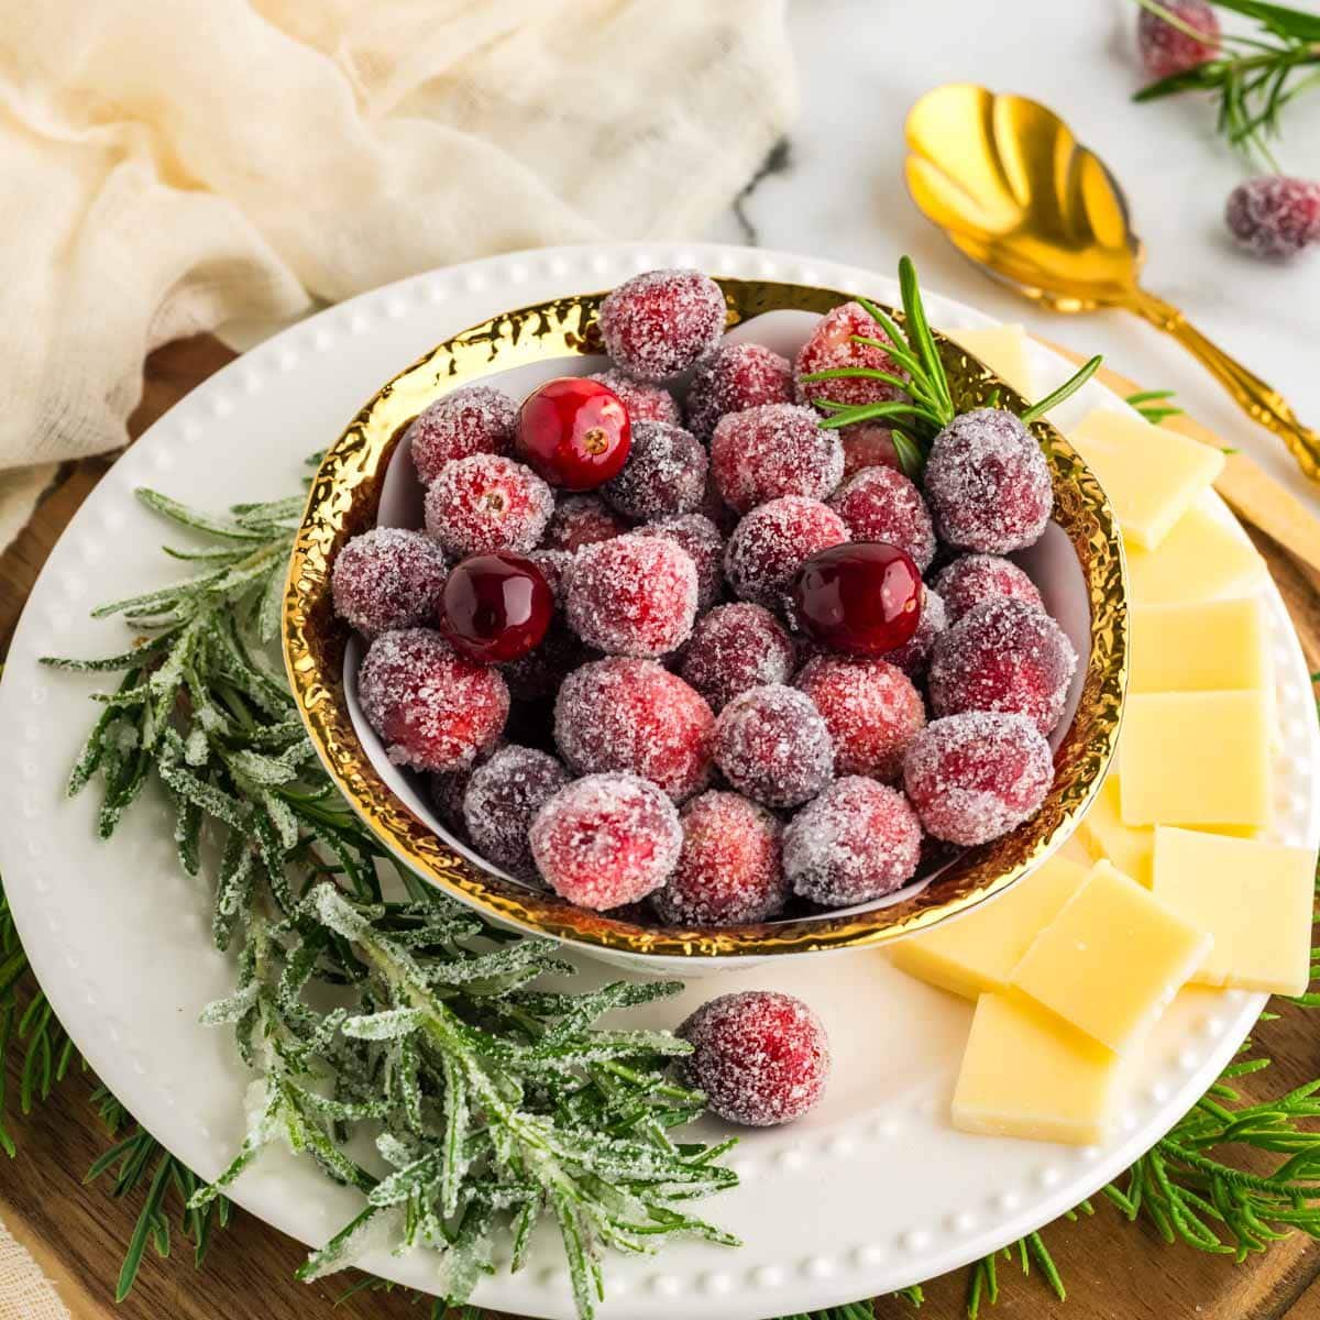
[[[1076,668],[1077,652],[1048,614],[991,597],[936,642],[931,706],[937,715],[964,710],[1027,715],[1048,734],[1063,714]]]

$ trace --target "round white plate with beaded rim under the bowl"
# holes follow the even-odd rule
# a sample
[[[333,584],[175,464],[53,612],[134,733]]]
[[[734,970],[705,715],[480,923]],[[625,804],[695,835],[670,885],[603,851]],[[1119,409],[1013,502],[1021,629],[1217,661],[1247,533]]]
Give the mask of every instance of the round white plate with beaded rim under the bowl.
[[[41,671],[37,656],[117,649],[123,624],[92,623],[87,611],[177,576],[157,550],[177,536],[133,506],[135,486],[209,508],[282,495],[308,451],[446,335],[502,308],[677,264],[855,288],[882,301],[896,292],[865,272],[709,244],[566,248],[405,280],[293,327],[190,393],[107,474],[51,553],[0,685],[8,752],[0,758],[8,812],[0,867],[24,945],[78,1048],[203,1177],[228,1163],[243,1131],[249,1074],[228,1032],[195,1024],[198,1010],[231,989],[232,966],[211,948],[206,887],[177,869],[165,804],[148,796],[103,845],[95,793],[62,796],[98,684]],[[987,323],[946,300],[928,302],[939,326]],[[1041,385],[1069,371],[1045,350],[1034,351],[1034,367]],[[1094,384],[1071,401],[1073,411],[1105,403],[1117,405]],[[1278,593],[1271,586],[1265,595],[1283,713],[1275,833],[1315,846],[1320,748],[1305,664]],[[719,989],[750,985],[800,994],[820,1011],[834,1043],[829,1093],[791,1127],[746,1135],[737,1152],[742,1187],[705,1206],[744,1247],[677,1243],[657,1258],[612,1258],[603,1317],[763,1320],[904,1287],[983,1255],[1055,1218],[1147,1148],[1214,1078],[1263,1003],[1232,991],[1180,995],[1150,1040],[1119,1134],[1077,1150],[953,1131],[948,1102],[969,1008],[882,957],[777,960],[730,973]],[[673,1023],[708,995],[709,983],[697,982],[685,999],[653,1007],[649,1020]],[[263,1154],[235,1200],[310,1243],[358,1204],[356,1193],[282,1150]],[[425,1255],[379,1253],[367,1263],[417,1288],[434,1280]],[[513,1313],[572,1316],[554,1239],[544,1236],[527,1270],[483,1283],[477,1299]]]

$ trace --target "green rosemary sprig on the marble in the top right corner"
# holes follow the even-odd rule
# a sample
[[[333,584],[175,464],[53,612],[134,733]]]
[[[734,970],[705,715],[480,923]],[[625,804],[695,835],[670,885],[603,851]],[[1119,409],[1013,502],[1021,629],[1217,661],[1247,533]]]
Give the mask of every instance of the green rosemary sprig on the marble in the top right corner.
[[[1302,92],[1320,86],[1320,15],[1258,0],[1210,3],[1254,18],[1261,36],[1224,33],[1220,54],[1147,84],[1134,99],[1146,102],[1184,91],[1208,91],[1218,100],[1218,132],[1233,147],[1255,153],[1271,170],[1278,170],[1269,141],[1282,133],[1283,111]],[[1159,0],[1137,0],[1137,4],[1193,40],[1205,41],[1205,33]]]

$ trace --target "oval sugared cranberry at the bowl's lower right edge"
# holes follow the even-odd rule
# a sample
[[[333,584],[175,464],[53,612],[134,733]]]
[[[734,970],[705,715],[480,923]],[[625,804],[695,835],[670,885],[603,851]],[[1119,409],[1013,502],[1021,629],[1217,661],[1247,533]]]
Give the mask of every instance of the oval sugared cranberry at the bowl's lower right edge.
[[[903,787],[927,833],[972,847],[1040,809],[1055,767],[1026,715],[974,710],[927,725],[903,758]]]

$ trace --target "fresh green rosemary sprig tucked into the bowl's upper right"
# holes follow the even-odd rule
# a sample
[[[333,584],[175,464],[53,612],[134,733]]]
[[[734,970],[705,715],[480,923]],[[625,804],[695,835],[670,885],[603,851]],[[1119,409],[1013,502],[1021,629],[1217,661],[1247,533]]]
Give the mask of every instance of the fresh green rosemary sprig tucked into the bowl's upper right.
[[[898,397],[873,404],[842,404],[833,399],[813,399],[828,413],[821,428],[837,430],[863,421],[884,421],[894,437],[894,449],[903,471],[917,480],[925,467],[931,445],[945,426],[958,416],[949,378],[931,323],[921,302],[921,288],[911,257],[899,259],[899,292],[903,301],[903,325],[869,298],[855,301],[884,331],[886,339],[851,335],[854,343],[879,348],[894,362],[900,375],[876,367],[832,367],[804,375],[805,381],[876,380],[898,391]],[[1030,425],[1051,408],[1076,393],[1100,368],[1101,359],[1092,358],[1073,376],[1039,403],[1026,409],[1022,421]],[[998,407],[998,404],[995,405]]]

